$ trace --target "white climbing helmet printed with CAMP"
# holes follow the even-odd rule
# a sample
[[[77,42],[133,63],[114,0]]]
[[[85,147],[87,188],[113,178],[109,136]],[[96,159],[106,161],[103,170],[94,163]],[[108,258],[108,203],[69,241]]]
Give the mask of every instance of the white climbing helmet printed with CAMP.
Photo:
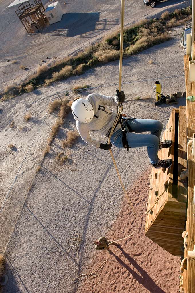
[[[88,123],[94,117],[94,109],[88,100],[77,99],[72,103],[71,109],[74,119],[82,123]]]

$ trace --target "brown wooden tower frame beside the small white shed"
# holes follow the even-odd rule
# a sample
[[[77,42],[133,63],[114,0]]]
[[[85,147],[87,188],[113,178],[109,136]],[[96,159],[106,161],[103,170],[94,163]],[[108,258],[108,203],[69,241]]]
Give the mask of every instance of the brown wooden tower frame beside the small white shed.
[[[41,31],[49,25],[45,16],[45,8],[41,0],[34,0],[34,4],[29,1],[22,3],[15,11],[27,33]]]

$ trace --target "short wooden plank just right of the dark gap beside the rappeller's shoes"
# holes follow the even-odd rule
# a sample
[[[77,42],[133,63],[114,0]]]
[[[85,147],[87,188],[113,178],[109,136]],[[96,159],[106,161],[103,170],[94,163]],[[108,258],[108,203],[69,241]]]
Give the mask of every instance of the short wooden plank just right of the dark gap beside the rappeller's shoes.
[[[182,202],[187,201],[187,177],[182,180],[180,175],[187,169],[187,126],[186,107],[179,107],[179,132],[178,132],[178,183],[177,199]]]

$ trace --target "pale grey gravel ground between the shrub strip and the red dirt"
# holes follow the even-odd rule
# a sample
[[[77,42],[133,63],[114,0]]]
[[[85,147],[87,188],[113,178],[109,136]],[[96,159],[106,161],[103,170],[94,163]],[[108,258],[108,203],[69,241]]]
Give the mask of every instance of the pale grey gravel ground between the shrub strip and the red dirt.
[[[174,31],[176,36],[180,33],[181,29]],[[159,77],[184,74],[183,54],[184,50],[179,47],[179,37],[176,37],[137,56],[124,59],[123,88],[127,99],[124,113],[130,117],[159,119],[165,127],[171,109],[183,105],[185,100],[179,99],[177,105],[155,107],[152,86]],[[148,64],[150,59],[154,61],[153,64]],[[141,82],[143,79],[153,80]],[[137,80],[140,82],[126,83]],[[164,93],[185,89],[184,76],[162,81]],[[105,86],[93,92],[112,95],[118,83],[118,61],[1,103],[1,205],[40,126],[49,101],[56,91],[67,92],[75,82]],[[86,96],[90,92],[87,90],[82,95]],[[137,96],[144,98],[148,94],[152,95],[152,99],[135,99]],[[72,93],[69,93],[69,97],[73,98]],[[24,122],[23,115],[28,111],[33,117],[29,122]],[[56,113],[48,115],[46,121],[52,125],[55,119]],[[11,129],[9,124],[12,120],[15,127]],[[23,130],[19,127],[23,127]],[[68,252],[66,243],[69,235],[77,230],[83,236],[80,248],[80,271],[83,272],[94,255],[92,240],[106,234],[120,213],[123,196],[108,152],[91,148],[79,139],[72,149],[64,150],[69,163],[61,166],[55,160],[55,155],[62,150],[62,139],[68,130],[74,128],[75,122],[70,114],[54,140],[50,153],[43,160],[43,166],[56,177],[43,167],[35,176],[37,163],[28,157],[11,192],[12,197],[9,197],[0,215],[0,251],[6,249],[10,261],[6,265],[9,282],[3,288],[4,292],[74,292],[72,279],[77,275],[77,256]],[[30,151],[38,161],[41,161],[49,132],[44,124]],[[103,138],[99,139],[104,141]],[[13,151],[7,147],[9,143],[15,145]],[[127,153],[125,149],[113,147],[113,154],[126,188],[133,186],[140,175],[150,168],[145,148],[130,149]],[[32,187],[30,191],[29,187]],[[18,200],[26,200],[26,207]],[[140,203],[140,212],[141,207],[143,203]],[[139,237],[144,237],[143,232]],[[124,251],[126,249],[124,247]],[[151,270],[147,271],[149,275],[151,273],[150,277]],[[159,282],[160,285],[164,284]]]

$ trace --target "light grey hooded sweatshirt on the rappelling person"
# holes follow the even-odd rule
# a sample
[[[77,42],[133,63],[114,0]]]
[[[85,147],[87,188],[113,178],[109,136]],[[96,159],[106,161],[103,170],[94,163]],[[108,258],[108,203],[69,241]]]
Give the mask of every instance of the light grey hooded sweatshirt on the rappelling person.
[[[99,132],[102,135],[107,135],[110,128],[113,127],[114,120],[116,118],[116,113],[109,110],[106,105],[108,106],[115,106],[117,105],[116,96],[108,97],[104,95],[100,95],[98,93],[91,93],[87,96],[86,100],[91,103],[94,109],[94,117],[88,123],[82,123],[77,120],[76,126],[77,130],[87,144],[91,144],[96,148],[100,147],[100,142],[96,139],[93,139],[89,131],[92,132]],[[114,131],[120,128],[120,124],[117,125]]]

